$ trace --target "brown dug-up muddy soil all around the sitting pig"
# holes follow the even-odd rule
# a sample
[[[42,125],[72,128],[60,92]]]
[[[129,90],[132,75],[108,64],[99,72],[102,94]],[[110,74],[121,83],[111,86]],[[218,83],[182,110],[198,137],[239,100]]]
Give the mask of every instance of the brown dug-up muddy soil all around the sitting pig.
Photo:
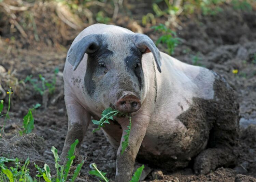
[[[220,167],[208,175],[198,176],[193,173],[192,167],[168,172],[146,164],[144,181],[256,181],[255,20],[255,12],[242,13],[226,8],[216,16],[200,17],[197,20],[181,17],[179,22],[181,28],[176,30],[177,35],[182,38],[182,43],[176,48],[173,56],[181,61],[218,72],[236,90],[241,115],[240,145],[233,151],[239,153],[237,163],[233,166]],[[159,37],[152,29],[142,28],[142,30],[154,41]],[[8,83],[14,84],[15,87],[11,99],[11,119],[7,121],[5,135],[0,140],[0,156],[23,160],[29,157],[31,176],[36,174],[34,162],[41,167],[47,163],[54,174],[51,147],[55,146],[58,153],[61,153],[68,128],[62,82],[66,51],[56,51],[47,47],[42,49],[40,45],[34,49],[21,49],[5,40],[6,38],[2,36],[0,80],[5,90],[8,89]],[[165,52],[162,45],[159,49]],[[31,84],[22,81],[27,75],[37,78],[39,74],[51,80],[56,67],[60,72],[57,74],[54,94],[44,93],[41,96]],[[8,103],[7,97],[5,96],[5,103]],[[33,133],[19,136],[18,131],[22,129],[23,116],[37,103],[42,106],[33,112],[35,119]],[[2,120],[0,124],[2,125]],[[114,180],[116,150],[105,139],[102,131],[92,133],[94,127],[89,126],[81,147],[80,154],[86,157],[86,161],[80,172],[80,181],[98,181],[88,174],[89,164],[92,162],[95,162],[100,170],[107,172],[109,179]]]

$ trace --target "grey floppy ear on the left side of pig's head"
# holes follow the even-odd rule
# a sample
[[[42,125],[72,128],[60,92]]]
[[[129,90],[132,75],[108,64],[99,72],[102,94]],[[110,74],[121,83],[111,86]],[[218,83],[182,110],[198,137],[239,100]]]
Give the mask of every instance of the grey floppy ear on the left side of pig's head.
[[[70,47],[67,55],[67,61],[73,67],[73,70],[77,68],[79,63],[84,57],[84,54],[91,54],[97,51],[102,43],[102,38],[98,34],[90,34],[76,42],[72,47]]]

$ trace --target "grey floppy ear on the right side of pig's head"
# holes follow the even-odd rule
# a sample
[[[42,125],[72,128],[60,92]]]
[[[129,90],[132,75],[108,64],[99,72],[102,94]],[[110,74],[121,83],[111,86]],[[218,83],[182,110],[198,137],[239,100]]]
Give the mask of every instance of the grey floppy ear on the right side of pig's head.
[[[161,73],[161,55],[154,42],[144,34],[136,34],[135,45],[142,53],[152,52],[156,61],[157,69]]]

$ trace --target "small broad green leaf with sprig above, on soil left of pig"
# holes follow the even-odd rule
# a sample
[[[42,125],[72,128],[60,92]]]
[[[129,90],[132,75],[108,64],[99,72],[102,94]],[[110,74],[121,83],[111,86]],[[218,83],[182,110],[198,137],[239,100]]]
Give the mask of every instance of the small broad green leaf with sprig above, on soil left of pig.
[[[19,131],[19,134],[29,134],[34,129],[34,117],[32,115],[32,111],[39,108],[41,104],[33,105],[32,109],[28,110],[28,113],[23,117],[23,126],[24,130]]]

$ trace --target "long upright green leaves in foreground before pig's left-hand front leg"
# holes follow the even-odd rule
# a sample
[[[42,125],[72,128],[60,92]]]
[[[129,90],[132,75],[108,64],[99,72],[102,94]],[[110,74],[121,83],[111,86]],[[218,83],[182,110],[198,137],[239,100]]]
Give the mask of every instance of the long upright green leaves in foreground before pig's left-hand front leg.
[[[68,156],[66,157],[67,162],[65,165],[59,164],[60,158],[58,156],[58,151],[55,147],[52,147],[51,151],[53,152],[54,159],[55,159],[55,168],[56,168],[56,174],[57,174],[56,177],[51,176],[51,170],[47,164],[44,164],[44,169],[38,167],[35,164],[35,168],[37,168],[38,172],[39,172],[39,174],[37,176],[43,177],[43,179],[46,182],[65,182],[68,179],[70,167],[73,164],[73,161],[75,159],[74,152],[75,152],[75,147],[78,144],[78,142],[79,141],[76,139],[75,142],[73,144],[71,144],[70,149],[68,151]],[[71,178],[69,179],[69,181],[71,181],[71,182],[75,181],[75,179],[79,175],[79,172],[80,172],[83,164],[84,164],[84,160],[82,160],[82,162],[76,166],[76,169],[75,169],[73,175],[71,176]]]

